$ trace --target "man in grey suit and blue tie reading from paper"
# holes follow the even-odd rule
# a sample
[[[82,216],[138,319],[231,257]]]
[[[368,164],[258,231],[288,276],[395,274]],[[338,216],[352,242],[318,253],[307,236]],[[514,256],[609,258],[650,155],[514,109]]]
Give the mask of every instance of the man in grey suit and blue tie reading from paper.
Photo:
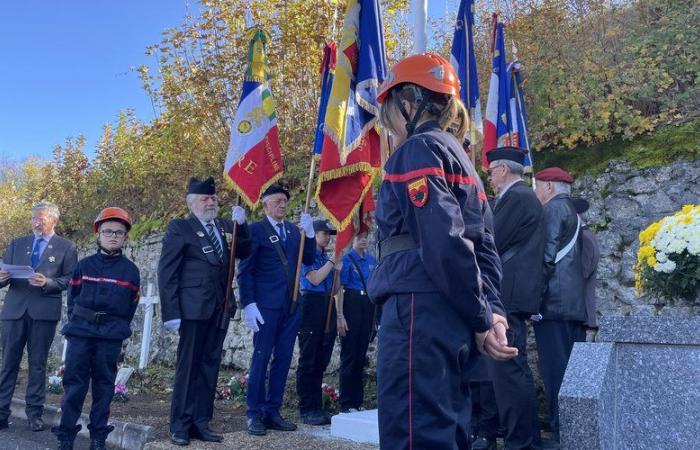
[[[28,279],[12,278],[0,270],[0,288],[9,285],[0,312],[3,346],[0,369],[0,429],[7,428],[10,404],[17,383],[24,346],[27,346],[29,373],[26,412],[32,431],[44,429],[41,415],[46,398],[46,360],[61,319],[61,293],[66,289],[78,261],[75,244],[56,236],[59,210],[50,202],[32,208],[33,234],[13,240],[3,263],[31,266]]]

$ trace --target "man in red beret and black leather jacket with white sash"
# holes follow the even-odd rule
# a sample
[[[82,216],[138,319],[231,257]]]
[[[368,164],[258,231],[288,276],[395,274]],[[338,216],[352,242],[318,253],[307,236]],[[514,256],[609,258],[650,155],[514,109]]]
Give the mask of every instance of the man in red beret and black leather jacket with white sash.
[[[574,178],[559,167],[535,174],[535,193],[544,205],[544,289],[535,339],[549,422],[559,440],[559,388],[574,342],[585,340],[581,220],[571,201]]]

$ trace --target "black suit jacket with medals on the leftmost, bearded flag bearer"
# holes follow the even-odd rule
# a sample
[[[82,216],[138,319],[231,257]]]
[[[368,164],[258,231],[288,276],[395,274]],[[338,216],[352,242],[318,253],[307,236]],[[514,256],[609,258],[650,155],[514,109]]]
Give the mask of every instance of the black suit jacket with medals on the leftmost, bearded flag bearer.
[[[158,290],[164,322],[208,320],[225,299],[230,245],[226,233],[233,231],[233,223],[227,219],[214,221],[225,243],[223,261],[212,250],[207,231],[194,215],[168,224],[158,262]],[[237,230],[236,257],[245,258],[250,253],[248,225],[240,225]],[[231,301],[229,307],[233,314],[235,302]]]

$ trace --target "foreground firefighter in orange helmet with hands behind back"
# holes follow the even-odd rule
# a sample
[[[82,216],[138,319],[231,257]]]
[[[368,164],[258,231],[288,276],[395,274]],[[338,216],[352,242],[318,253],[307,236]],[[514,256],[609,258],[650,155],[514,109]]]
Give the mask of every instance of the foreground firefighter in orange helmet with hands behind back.
[[[425,53],[394,66],[377,96],[397,145],[384,166],[380,262],[368,285],[383,304],[383,449],[469,448],[470,356],[517,355],[497,296],[500,265],[484,223],[490,210],[461,145],[468,119],[458,95],[452,66]]]

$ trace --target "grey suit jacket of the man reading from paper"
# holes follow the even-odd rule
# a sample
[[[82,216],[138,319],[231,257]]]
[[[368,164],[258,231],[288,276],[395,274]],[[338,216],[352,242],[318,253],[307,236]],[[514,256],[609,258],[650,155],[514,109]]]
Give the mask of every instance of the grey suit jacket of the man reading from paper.
[[[7,247],[5,264],[31,265],[34,236],[24,236],[13,240]],[[20,319],[25,311],[34,320],[61,319],[61,293],[66,290],[68,280],[78,262],[75,244],[68,239],[54,235],[41,255],[36,272],[48,278],[43,288],[31,286],[27,280],[12,278],[0,283],[0,288],[10,286],[5,296],[5,304],[0,320]]]

